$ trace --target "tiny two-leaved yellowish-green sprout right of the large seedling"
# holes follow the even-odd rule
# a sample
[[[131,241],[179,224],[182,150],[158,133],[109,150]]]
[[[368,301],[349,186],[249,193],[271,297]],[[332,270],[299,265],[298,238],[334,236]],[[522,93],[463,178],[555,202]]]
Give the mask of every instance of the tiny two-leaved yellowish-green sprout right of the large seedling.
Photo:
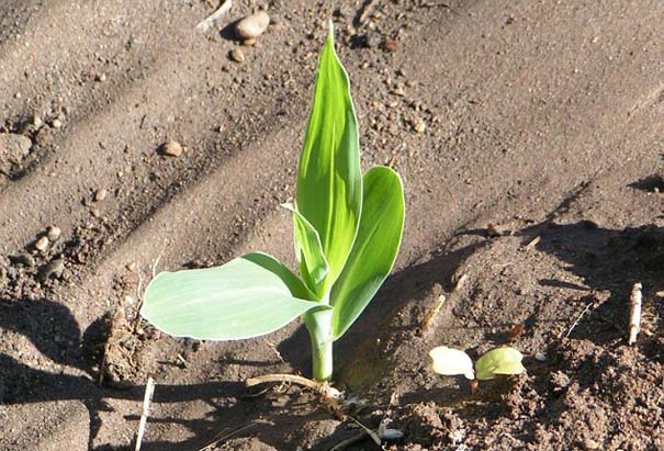
[[[439,346],[429,351],[429,357],[434,359],[434,371],[438,374],[463,374],[470,380],[485,381],[498,374],[521,374],[526,371],[521,364],[524,356],[508,347],[485,352],[477,359],[474,369],[470,356],[459,349]]]

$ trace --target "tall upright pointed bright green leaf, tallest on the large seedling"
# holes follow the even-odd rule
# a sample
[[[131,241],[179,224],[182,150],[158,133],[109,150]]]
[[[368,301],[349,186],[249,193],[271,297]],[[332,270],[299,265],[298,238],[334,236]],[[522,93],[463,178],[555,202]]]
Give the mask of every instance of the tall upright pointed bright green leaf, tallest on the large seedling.
[[[323,47],[314,104],[297,173],[297,210],[320,236],[329,282],[352,247],[362,205],[362,172],[348,75],[335,53],[331,30]]]

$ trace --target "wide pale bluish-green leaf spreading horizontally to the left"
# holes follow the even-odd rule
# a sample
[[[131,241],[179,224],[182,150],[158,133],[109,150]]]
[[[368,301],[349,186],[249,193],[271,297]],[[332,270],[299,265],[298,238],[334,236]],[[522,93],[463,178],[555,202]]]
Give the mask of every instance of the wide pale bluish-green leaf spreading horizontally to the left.
[[[277,330],[320,304],[274,258],[250,253],[216,268],[161,272],[140,315],[158,329],[203,340],[237,340]]]

